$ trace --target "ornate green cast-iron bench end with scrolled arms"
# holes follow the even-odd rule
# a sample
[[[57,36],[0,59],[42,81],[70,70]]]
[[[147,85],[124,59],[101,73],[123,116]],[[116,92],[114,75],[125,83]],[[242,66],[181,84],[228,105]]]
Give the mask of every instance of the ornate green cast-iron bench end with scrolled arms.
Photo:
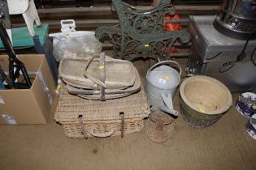
[[[169,59],[176,40],[189,42],[188,32],[163,30],[164,16],[175,14],[174,6],[169,3],[169,0],[163,0],[155,8],[142,11],[121,0],[113,0],[111,9],[117,12],[119,24],[97,28],[95,36],[98,39],[107,36],[117,58],[130,61],[137,57]]]

